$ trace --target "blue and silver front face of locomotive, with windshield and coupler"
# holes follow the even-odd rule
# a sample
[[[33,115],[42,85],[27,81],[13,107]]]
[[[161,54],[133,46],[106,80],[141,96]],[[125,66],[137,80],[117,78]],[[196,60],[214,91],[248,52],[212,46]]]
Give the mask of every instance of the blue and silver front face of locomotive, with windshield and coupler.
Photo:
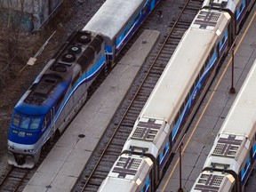
[[[41,133],[46,128],[44,116],[28,116],[14,111],[9,129],[8,163],[32,168],[40,157]]]

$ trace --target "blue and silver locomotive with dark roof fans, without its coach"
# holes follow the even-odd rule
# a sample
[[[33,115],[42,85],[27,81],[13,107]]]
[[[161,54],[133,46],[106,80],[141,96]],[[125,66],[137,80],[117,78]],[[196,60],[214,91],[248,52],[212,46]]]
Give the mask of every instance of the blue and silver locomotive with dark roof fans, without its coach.
[[[54,132],[63,132],[86,99],[86,90],[105,66],[104,40],[75,32],[14,108],[9,164],[31,168]]]

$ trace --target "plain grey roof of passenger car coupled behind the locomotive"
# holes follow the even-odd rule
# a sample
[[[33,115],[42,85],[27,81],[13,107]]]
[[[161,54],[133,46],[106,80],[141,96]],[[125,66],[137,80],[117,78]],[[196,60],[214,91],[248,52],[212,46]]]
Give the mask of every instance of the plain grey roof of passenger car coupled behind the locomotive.
[[[127,20],[132,17],[132,14],[146,2],[146,0],[108,0],[94,14],[83,30],[101,33],[113,39]]]

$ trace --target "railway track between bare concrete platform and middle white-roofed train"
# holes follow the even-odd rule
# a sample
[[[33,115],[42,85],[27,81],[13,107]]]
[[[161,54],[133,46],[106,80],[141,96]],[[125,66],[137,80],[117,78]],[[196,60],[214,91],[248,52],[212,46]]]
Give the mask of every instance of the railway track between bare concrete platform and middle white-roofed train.
[[[120,112],[116,115],[116,119],[120,120],[115,120],[114,124],[109,125],[72,191],[97,191],[100,188],[101,182],[107,177],[112,165],[120,155],[124,142],[132,132],[133,124],[164,71],[168,60],[202,4],[203,0],[188,0],[180,6],[179,16],[170,23],[169,34],[164,36],[158,51],[151,54],[149,57],[151,61],[145,64],[148,65],[148,69],[140,76],[140,80],[138,80],[140,83],[132,87],[124,105],[120,107]]]

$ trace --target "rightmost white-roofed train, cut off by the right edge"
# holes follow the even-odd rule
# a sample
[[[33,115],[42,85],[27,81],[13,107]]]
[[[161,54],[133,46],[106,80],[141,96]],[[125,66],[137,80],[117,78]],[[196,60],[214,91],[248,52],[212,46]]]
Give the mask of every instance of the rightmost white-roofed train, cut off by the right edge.
[[[256,60],[191,191],[244,191],[245,183],[256,165],[255,79]]]

